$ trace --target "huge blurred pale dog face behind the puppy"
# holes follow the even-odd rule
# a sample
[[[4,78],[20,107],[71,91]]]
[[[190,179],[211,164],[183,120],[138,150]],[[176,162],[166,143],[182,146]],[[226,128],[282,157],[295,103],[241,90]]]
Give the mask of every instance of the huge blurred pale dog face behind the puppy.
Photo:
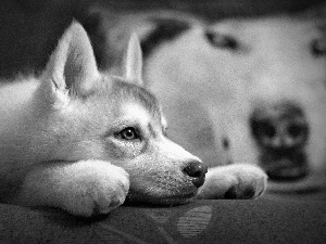
[[[325,189],[325,15],[122,18],[103,24],[108,46],[118,51],[124,26],[138,29],[145,80],[173,121],[173,140],[210,167],[259,165],[272,192]]]

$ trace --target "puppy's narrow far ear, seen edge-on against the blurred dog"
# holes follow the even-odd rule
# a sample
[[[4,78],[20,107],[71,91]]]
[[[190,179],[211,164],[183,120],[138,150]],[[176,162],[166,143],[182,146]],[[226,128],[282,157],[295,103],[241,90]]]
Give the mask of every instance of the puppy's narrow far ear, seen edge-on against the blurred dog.
[[[142,53],[136,33],[131,34],[125,56],[125,78],[127,81],[142,86]]]

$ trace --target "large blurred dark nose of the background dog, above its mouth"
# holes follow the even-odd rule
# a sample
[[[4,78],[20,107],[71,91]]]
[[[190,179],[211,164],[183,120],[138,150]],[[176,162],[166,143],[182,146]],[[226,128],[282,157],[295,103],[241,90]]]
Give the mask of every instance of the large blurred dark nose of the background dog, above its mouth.
[[[309,138],[303,111],[290,102],[254,110],[250,127],[258,144],[267,150],[302,147]]]

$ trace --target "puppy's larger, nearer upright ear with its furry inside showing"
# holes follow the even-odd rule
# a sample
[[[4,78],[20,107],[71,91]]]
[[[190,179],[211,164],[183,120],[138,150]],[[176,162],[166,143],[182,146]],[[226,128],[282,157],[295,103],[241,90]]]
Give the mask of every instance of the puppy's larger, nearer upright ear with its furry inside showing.
[[[73,22],[60,39],[43,73],[46,97],[55,105],[87,97],[100,74],[90,40],[83,26]]]

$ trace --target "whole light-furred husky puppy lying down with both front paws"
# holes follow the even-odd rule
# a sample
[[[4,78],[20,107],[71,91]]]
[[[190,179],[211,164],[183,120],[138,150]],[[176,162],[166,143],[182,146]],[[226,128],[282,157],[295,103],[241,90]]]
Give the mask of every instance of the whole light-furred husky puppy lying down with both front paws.
[[[141,88],[141,53],[128,43],[124,77],[97,67],[90,40],[73,23],[40,77],[0,87],[0,200],[106,214],[127,198],[184,204],[204,183],[206,166],[165,137],[155,98]],[[220,196],[256,197],[265,175],[220,171]],[[204,192],[204,191],[203,191]]]

